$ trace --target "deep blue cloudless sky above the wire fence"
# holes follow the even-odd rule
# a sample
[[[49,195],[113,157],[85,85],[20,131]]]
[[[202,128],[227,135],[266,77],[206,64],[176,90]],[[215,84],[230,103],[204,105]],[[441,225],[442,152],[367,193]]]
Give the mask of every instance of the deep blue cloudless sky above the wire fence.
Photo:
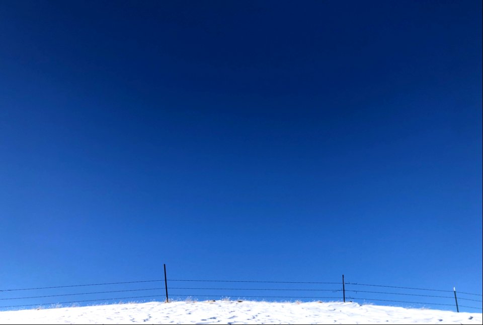
[[[481,293],[481,6],[0,2],[0,289]]]

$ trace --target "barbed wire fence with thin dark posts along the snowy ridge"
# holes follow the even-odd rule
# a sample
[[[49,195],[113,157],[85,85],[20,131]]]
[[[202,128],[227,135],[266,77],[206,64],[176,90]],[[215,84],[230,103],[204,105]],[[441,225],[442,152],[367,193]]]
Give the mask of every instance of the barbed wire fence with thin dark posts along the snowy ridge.
[[[103,287],[104,290],[87,290]],[[374,288],[374,289],[372,289]],[[32,294],[29,294],[33,292]],[[457,297],[458,295],[458,297]],[[69,299],[72,297],[73,299]],[[89,299],[82,299],[86,297]],[[0,289],[0,311],[176,300],[343,301],[478,311],[482,295],[454,290],[345,282],[155,279]],[[67,300],[67,301],[65,301]],[[463,304],[458,304],[463,302]]]

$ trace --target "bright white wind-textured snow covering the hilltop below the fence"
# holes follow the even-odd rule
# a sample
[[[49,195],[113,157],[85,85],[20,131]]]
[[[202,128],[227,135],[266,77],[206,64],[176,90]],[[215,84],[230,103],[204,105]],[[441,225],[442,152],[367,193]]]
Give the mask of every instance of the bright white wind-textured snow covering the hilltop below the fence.
[[[0,324],[481,324],[481,313],[349,302],[177,301],[0,312]]]

